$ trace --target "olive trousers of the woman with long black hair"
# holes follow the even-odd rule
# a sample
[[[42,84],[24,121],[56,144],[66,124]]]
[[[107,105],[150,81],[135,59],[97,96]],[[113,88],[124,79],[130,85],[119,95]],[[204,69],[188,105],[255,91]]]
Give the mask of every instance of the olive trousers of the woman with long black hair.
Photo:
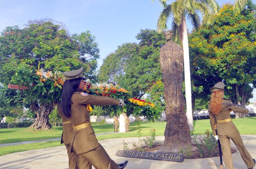
[[[74,148],[73,152],[75,153]],[[78,154],[76,156],[78,156],[76,159],[78,161],[87,161],[87,165],[79,166],[79,169],[91,169],[92,165],[95,167],[95,169],[118,169],[118,164],[111,160],[101,144],[99,144],[99,146],[93,150]],[[81,163],[82,162],[78,162],[78,164]]]

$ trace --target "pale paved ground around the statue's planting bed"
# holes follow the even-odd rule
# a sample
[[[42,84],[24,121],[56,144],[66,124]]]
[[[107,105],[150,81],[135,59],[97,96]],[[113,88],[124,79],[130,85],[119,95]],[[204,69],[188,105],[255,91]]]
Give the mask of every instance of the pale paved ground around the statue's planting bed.
[[[244,144],[252,158],[256,158],[256,135],[242,135]],[[136,159],[115,156],[117,150],[122,150],[123,140],[132,146],[132,141],[138,138],[115,138],[100,140],[111,159],[116,163],[128,160],[125,169],[219,169],[219,157],[206,159],[185,159],[183,162],[158,161],[149,159]],[[164,136],[157,136],[157,140],[163,141]],[[232,142],[232,148],[235,148]],[[240,153],[234,153],[233,163],[235,169],[247,169]],[[68,169],[68,156],[65,146],[29,150],[19,153],[0,156],[1,169]],[[224,167],[225,169],[225,167]]]

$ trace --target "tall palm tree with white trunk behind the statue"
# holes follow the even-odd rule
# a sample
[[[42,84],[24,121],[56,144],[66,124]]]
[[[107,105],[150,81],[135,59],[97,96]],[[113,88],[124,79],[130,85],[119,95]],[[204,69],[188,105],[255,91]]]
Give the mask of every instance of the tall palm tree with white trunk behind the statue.
[[[199,12],[202,14],[202,24],[210,25],[213,21],[213,15],[219,11],[219,5],[215,0],[176,0],[169,5],[166,4],[167,0],[159,0],[159,2],[164,9],[160,13],[157,21],[157,31],[162,32],[163,30],[167,29],[167,21],[172,17],[173,37],[175,41],[180,39],[183,45],[187,117],[189,128],[190,130],[193,130],[186,16],[191,21],[195,29],[198,29],[200,26]]]

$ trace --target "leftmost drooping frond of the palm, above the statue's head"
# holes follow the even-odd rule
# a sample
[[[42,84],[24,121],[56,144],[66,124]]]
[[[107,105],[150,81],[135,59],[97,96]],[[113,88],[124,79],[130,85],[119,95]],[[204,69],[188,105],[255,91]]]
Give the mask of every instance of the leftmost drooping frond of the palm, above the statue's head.
[[[157,32],[162,32],[164,29],[167,29],[167,21],[171,17],[171,5],[167,5],[166,8],[162,10],[157,20]]]

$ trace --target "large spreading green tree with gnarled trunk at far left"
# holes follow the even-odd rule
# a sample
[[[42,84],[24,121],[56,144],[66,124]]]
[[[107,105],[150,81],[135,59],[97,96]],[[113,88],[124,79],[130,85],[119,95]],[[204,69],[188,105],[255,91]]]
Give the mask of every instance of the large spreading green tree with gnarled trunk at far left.
[[[84,73],[93,80],[97,58],[98,45],[90,31],[69,35],[63,24],[52,19],[29,21],[23,29],[6,27],[0,35],[0,83],[5,90],[13,90],[7,89],[10,82],[30,87],[31,90],[17,91],[19,97],[6,98],[14,102],[23,99],[23,106],[37,115],[32,126],[48,129],[48,115],[54,109],[54,102],[60,98],[60,87],[55,88],[55,82],[44,85],[40,81],[43,78],[35,76],[36,69],[44,68],[45,73],[64,72],[84,66]]]

